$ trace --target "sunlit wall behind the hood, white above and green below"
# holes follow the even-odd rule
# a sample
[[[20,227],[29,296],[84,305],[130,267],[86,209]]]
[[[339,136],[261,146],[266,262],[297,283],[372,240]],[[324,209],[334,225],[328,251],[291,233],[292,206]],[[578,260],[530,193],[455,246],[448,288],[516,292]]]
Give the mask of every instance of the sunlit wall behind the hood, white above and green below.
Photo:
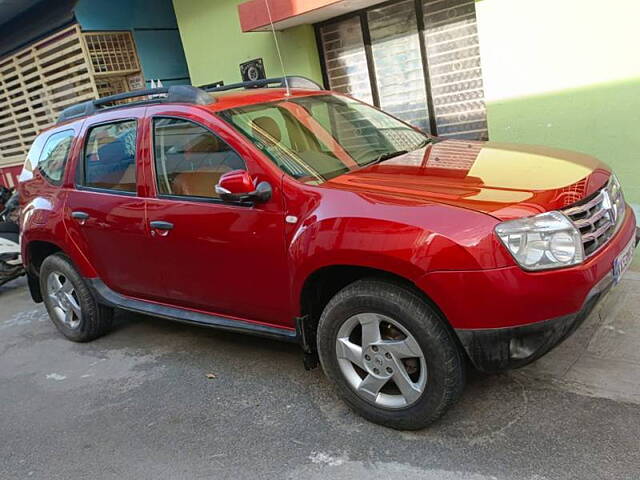
[[[640,2],[476,4],[489,138],[598,156],[640,213]]]

